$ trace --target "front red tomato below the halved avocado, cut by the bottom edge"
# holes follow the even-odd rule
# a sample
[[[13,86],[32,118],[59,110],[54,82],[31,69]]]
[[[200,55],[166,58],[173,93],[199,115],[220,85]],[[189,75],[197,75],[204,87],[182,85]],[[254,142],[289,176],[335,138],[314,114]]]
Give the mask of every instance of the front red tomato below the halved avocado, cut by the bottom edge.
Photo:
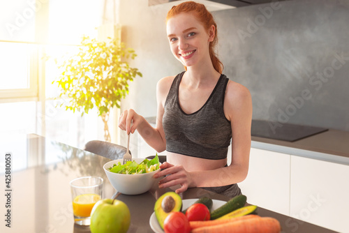
[[[190,233],[191,225],[184,213],[175,211],[165,218],[163,230],[165,230],[165,233]]]

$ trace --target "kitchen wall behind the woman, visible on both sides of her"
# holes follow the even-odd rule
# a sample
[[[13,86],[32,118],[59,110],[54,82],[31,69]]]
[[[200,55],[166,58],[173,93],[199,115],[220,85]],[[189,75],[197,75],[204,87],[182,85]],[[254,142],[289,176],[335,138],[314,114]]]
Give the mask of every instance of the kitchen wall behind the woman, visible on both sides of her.
[[[144,74],[123,108],[156,114],[156,82],[183,70],[165,34],[168,8],[120,1],[123,40]],[[213,13],[223,73],[251,91],[253,119],[349,131],[348,1],[282,1]]]

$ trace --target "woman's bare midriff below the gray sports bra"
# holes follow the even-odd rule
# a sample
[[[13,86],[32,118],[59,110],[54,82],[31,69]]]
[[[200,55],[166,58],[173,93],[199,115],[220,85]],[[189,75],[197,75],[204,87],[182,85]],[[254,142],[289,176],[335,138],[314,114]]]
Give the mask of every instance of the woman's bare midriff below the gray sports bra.
[[[182,165],[188,172],[215,170],[224,167],[227,164],[226,158],[220,160],[211,160],[192,156],[184,156],[179,153],[172,153],[168,151],[166,151],[166,160],[172,165]]]

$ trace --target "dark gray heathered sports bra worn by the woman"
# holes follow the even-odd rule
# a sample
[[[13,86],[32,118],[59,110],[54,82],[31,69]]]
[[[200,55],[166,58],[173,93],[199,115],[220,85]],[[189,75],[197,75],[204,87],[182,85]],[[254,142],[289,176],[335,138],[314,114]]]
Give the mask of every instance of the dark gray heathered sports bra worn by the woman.
[[[166,151],[212,160],[227,158],[232,138],[230,121],[223,112],[228,77],[221,75],[200,110],[186,114],[181,110],[178,99],[179,84],[184,73],[174,77],[165,100],[163,129]]]

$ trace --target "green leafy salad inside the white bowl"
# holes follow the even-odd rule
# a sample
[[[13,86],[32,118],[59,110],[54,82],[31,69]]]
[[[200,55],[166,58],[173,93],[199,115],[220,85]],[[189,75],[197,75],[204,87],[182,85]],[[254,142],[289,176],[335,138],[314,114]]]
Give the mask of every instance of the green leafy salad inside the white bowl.
[[[158,160],[158,154],[156,153],[155,158],[152,160],[145,158],[140,164],[135,162],[135,160],[128,161],[125,164],[118,162],[117,164],[114,163],[114,165],[109,167],[108,170],[110,170],[110,172],[120,174],[142,174],[154,172],[159,169],[159,166],[160,163]]]

